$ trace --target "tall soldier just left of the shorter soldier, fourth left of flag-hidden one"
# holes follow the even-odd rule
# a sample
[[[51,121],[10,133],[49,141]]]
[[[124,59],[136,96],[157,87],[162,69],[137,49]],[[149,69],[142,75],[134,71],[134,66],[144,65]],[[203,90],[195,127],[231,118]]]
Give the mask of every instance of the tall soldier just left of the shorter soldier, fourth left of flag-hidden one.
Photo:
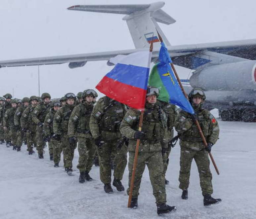
[[[48,113],[50,107],[51,95],[49,93],[43,93],[41,95],[42,101],[35,107],[32,113],[32,120],[37,125],[36,127],[36,150],[39,159],[43,159],[43,148],[45,145],[45,136],[43,132],[44,119]]]

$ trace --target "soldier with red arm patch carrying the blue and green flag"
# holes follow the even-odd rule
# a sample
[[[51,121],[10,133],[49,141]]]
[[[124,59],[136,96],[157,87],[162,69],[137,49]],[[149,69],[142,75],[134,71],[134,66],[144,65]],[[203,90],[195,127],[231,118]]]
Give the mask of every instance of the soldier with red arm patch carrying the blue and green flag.
[[[188,199],[190,169],[192,160],[194,159],[199,172],[200,186],[204,197],[203,203],[204,206],[208,206],[221,202],[221,199],[211,197],[213,193],[212,174],[208,158],[208,152],[211,151],[211,147],[218,140],[219,126],[214,116],[209,111],[203,109],[202,102],[204,100],[205,94],[201,89],[194,88],[189,93],[189,101],[195,110],[202,132],[208,142],[207,148],[205,148],[200,133],[194,123],[195,117],[191,114],[182,110],[175,122],[175,129],[180,134],[179,188],[182,189],[181,198]]]

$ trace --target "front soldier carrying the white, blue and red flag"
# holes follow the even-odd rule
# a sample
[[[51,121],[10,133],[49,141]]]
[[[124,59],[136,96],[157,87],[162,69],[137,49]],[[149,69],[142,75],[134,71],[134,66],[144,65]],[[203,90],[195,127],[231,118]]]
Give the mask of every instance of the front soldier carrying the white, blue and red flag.
[[[138,207],[139,188],[145,166],[149,169],[149,178],[153,187],[153,195],[156,200],[157,214],[175,211],[175,206],[166,204],[165,179],[163,174],[162,152],[167,148],[165,139],[167,131],[167,119],[163,110],[156,104],[158,89],[148,87],[143,117],[142,131],[138,131],[140,111],[130,108],[124,116],[120,126],[122,135],[129,138],[129,188],[132,177],[133,162],[136,142],[140,139],[138,164],[135,172],[134,188],[132,192],[131,207]]]

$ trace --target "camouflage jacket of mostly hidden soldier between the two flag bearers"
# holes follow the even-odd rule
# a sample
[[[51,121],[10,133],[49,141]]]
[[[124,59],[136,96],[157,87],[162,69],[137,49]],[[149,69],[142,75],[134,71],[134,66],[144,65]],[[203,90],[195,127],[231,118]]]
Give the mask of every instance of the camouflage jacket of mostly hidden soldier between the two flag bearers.
[[[170,141],[173,138],[174,123],[177,118],[177,107],[173,104],[163,101],[157,101],[167,117],[167,136],[166,139]]]

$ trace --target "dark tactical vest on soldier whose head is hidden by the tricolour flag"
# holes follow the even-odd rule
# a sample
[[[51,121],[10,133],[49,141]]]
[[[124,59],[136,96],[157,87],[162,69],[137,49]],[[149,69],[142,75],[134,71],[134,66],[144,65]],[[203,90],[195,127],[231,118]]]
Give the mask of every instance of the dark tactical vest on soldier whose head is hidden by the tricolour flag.
[[[118,101],[103,97],[105,109],[101,115],[99,127],[102,131],[119,132],[121,122],[124,117],[124,105]]]

